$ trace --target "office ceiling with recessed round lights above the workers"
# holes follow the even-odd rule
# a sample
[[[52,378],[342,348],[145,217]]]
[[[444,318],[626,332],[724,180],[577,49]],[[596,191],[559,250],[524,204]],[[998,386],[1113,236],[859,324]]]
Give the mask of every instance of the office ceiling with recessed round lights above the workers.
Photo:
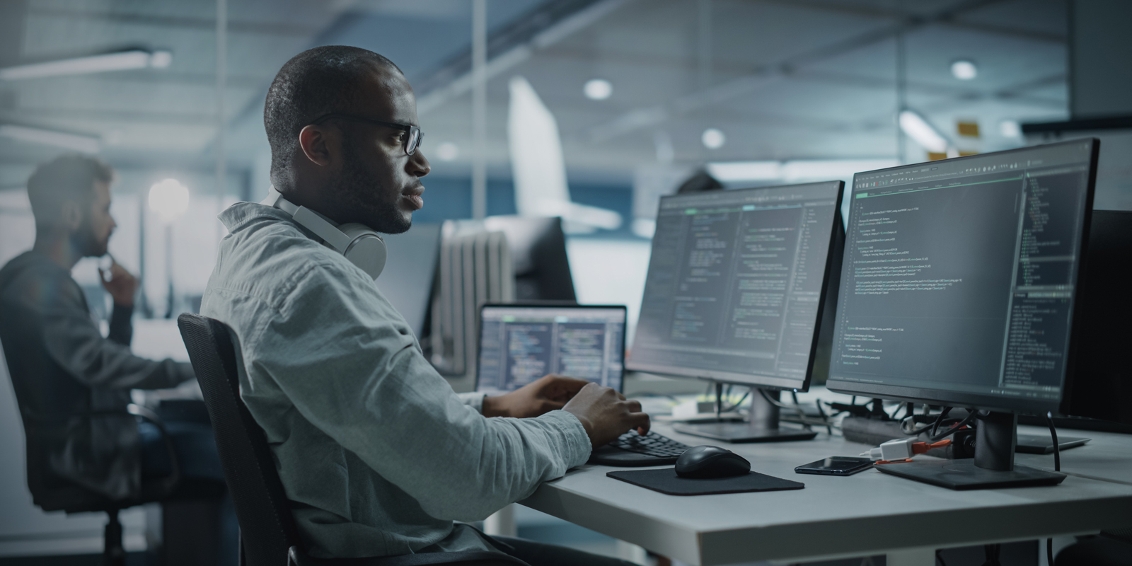
[[[278,67],[309,46],[346,43],[405,70],[435,173],[468,174],[469,0],[228,5],[231,170],[264,166],[263,96]],[[126,46],[173,52],[166,69],[0,82],[0,123],[98,136],[119,166],[213,166],[213,0],[9,0],[0,10],[3,66]],[[892,157],[901,43],[907,106],[960,148],[1019,145],[1000,134],[1003,120],[1066,117],[1066,0],[489,0],[490,171],[508,174],[515,75],[556,114],[572,178],[623,182],[668,155],[677,164]],[[957,59],[974,60],[978,76],[954,78]],[[586,98],[591,78],[608,79],[612,95]],[[957,136],[957,120],[977,121],[981,138]],[[726,135],[718,149],[701,144],[710,127]],[[456,145],[455,160],[437,158],[441,142]],[[0,188],[22,186],[32,164],[59,152],[0,138]]]

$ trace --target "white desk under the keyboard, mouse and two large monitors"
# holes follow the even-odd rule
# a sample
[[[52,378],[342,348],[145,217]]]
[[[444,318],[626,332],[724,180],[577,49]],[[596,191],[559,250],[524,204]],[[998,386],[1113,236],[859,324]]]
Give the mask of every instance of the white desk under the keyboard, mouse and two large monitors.
[[[710,444],[663,424],[654,429],[692,446]],[[848,478],[795,473],[799,464],[865,448],[820,432],[808,441],[728,446],[757,472],[806,483],[801,490],[677,497],[586,465],[521,503],[694,565],[889,554],[890,564],[927,566],[934,548],[1132,526],[1132,482],[1083,477],[1132,475],[1115,471],[1130,466],[1132,437],[1069,436],[1090,436],[1096,445],[1062,454],[1062,470],[1072,474],[1056,487],[952,491],[875,470]],[[1052,455],[1020,456],[1053,466]]]

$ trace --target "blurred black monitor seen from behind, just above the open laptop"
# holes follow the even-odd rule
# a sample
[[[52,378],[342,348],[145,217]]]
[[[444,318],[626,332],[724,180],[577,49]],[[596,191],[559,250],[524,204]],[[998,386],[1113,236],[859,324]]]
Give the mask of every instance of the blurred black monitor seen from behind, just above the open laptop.
[[[489,216],[483,225],[507,235],[516,301],[577,300],[561,218]]]

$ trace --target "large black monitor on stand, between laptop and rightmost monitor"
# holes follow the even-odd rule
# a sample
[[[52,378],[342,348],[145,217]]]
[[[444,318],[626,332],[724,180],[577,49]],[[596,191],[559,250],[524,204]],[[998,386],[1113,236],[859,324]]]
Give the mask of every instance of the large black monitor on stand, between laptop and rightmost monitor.
[[[779,391],[806,391],[829,343],[843,242],[841,181],[663,197],[627,367],[752,387],[747,422],[679,424],[727,441],[780,428]],[[821,324],[825,319],[826,324]],[[829,351],[824,349],[824,351]]]

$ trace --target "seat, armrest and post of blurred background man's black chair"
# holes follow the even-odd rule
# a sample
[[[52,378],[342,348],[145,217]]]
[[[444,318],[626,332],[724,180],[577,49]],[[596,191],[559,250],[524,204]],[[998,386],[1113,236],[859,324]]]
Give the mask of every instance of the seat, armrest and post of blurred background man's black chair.
[[[24,420],[25,435],[41,424],[49,424],[46,419],[40,419],[31,410],[19,405]],[[165,431],[165,424],[156,413],[140,405],[129,404],[126,411],[95,411],[87,414],[94,419],[130,419],[142,418],[152,422],[161,431],[169,452],[171,472],[160,480],[143,481],[142,492],[137,498],[110,499],[77,483],[55,478],[41,469],[41,458],[28,449],[27,454],[27,488],[32,492],[32,503],[43,511],[62,511],[63,513],[105,513],[109,516],[103,531],[102,564],[103,566],[125,566],[126,549],[122,547],[122,524],[118,514],[122,509],[147,503],[171,503],[195,499],[215,499],[224,495],[224,484],[214,481],[185,481],[181,479],[180,465],[173,444]],[[28,438],[31,444],[31,436]]]

